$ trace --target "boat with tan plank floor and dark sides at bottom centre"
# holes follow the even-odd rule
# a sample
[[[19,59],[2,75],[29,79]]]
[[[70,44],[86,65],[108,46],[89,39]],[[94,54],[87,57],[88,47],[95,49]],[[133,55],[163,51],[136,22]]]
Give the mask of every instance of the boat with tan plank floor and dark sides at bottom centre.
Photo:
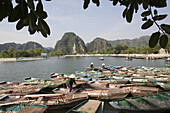
[[[102,113],[103,104],[98,100],[85,100],[66,113]]]

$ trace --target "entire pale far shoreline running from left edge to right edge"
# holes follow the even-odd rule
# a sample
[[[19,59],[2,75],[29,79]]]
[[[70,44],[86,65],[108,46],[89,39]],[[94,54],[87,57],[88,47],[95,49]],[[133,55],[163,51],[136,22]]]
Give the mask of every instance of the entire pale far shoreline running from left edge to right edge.
[[[170,57],[170,54],[76,54],[76,55],[64,55],[64,56],[52,56],[52,57],[18,57],[18,58],[0,58],[0,62],[17,62],[17,61],[33,61],[33,60],[45,60],[65,57],[128,57],[136,59],[163,59]]]

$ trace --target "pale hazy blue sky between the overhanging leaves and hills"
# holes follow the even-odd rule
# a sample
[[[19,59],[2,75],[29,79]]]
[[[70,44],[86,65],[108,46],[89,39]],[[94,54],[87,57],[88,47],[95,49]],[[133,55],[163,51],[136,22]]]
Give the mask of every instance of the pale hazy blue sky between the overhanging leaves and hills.
[[[129,24],[122,17],[125,7],[119,5],[113,7],[109,0],[100,0],[100,7],[91,3],[84,10],[83,1],[52,0],[51,2],[43,2],[44,9],[48,13],[46,22],[51,29],[51,35],[48,38],[44,38],[40,33],[29,35],[27,27],[17,31],[16,23],[8,23],[7,19],[3,20],[0,22],[0,44],[36,41],[44,47],[54,47],[66,32],[74,32],[85,43],[88,43],[96,37],[107,40],[133,39],[143,35],[151,35],[152,32],[157,31],[155,25],[147,30],[141,30],[143,24],[140,16],[141,10],[138,14],[134,14],[133,20]],[[170,24],[170,0],[167,1],[168,7],[159,9],[158,12],[168,14],[169,16],[161,22]]]

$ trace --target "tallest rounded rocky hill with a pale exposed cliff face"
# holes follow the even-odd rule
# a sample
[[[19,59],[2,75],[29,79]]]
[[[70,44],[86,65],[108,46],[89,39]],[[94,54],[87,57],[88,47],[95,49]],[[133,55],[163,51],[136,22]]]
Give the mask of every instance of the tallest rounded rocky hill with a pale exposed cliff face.
[[[86,53],[87,48],[84,41],[75,33],[65,33],[54,48],[54,51],[61,51],[63,54]]]

